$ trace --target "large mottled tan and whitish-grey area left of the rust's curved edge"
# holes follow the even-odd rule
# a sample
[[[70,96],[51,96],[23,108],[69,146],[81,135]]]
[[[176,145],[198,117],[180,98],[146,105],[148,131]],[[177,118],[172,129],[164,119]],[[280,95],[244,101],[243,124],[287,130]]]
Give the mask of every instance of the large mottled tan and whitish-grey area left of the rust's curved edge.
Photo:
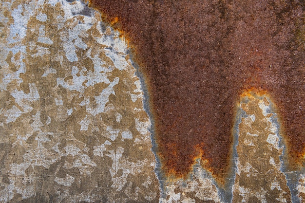
[[[151,123],[118,33],[80,1],[7,1],[0,15],[0,202],[158,202]]]

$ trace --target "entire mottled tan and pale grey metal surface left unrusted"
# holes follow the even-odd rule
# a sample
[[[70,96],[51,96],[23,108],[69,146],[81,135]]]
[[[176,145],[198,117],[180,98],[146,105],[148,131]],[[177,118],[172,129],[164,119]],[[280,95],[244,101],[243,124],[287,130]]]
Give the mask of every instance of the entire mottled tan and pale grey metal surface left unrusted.
[[[305,201],[267,95],[236,107],[227,184],[200,159],[187,179],[161,180],[145,84],[119,33],[81,1],[0,6],[0,202]]]

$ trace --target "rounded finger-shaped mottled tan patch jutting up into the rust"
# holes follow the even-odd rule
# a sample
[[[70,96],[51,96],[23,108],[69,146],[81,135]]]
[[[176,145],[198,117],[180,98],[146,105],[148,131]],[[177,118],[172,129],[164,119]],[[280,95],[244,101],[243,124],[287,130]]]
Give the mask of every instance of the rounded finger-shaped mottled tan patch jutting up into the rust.
[[[252,94],[240,103],[233,203],[291,202],[282,172],[284,144],[272,105],[266,95]]]

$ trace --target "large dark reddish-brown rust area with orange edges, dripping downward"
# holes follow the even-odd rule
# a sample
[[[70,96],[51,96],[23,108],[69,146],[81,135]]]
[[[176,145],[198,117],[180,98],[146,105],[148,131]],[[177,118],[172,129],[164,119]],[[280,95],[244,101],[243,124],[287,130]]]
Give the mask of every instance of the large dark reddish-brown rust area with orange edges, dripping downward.
[[[269,92],[283,118],[289,158],[303,161],[301,1],[90,0],[90,5],[125,35],[146,77],[157,154],[167,175],[186,177],[200,156],[215,177],[224,178],[235,105],[249,89]]]

